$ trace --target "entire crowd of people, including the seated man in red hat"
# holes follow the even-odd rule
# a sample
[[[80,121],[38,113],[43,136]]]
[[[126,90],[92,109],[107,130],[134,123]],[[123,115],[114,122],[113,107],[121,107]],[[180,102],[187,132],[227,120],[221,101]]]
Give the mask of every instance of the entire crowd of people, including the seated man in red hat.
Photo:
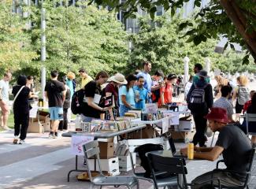
[[[175,73],[165,76],[161,70],[157,70],[154,76],[150,76],[150,72],[149,61],[143,61],[143,71],[136,70],[135,74],[126,77],[119,72],[109,76],[107,72],[101,71],[93,80],[85,69],[80,69],[80,87],[75,82],[74,72],[68,72],[61,79],[58,78],[58,71],[50,72],[50,80],[44,89],[51,120],[49,138],[58,137],[58,130],[68,129],[68,109],[74,105],[75,108],[80,107],[82,120],[90,122],[93,119],[115,120],[123,117],[130,109],[143,111],[146,103],[158,103],[158,107],[172,103],[173,96],[181,91],[179,84],[182,83],[182,78]],[[236,78],[237,85],[221,74],[217,75],[217,85],[212,87],[210,76],[202,69],[202,65],[195,64],[194,72],[195,75],[184,85],[184,98],[195,121],[195,135],[191,141],[195,145],[195,158],[214,161],[223,154],[228,169],[246,172],[249,161],[245,154],[255,146],[256,137],[252,136],[251,140],[247,137],[247,120],[244,119],[243,124],[240,124],[237,115],[256,113],[256,92],[249,91],[247,77],[243,75]],[[6,130],[9,130],[7,120],[11,79],[12,74],[6,72],[0,80],[1,128]],[[30,102],[33,98],[38,98],[33,87],[33,77],[18,76],[12,93],[13,143],[22,144],[28,130],[29,110],[32,108]],[[207,122],[213,132],[219,132],[214,147],[206,147],[205,144]],[[250,126],[254,127],[253,124]],[[256,132],[256,128],[254,130]],[[186,148],[180,152],[187,155]],[[210,185],[218,184],[215,181],[206,182],[210,179],[217,179],[221,184],[229,186],[229,183],[243,184],[245,176],[213,170],[193,180],[191,188],[211,188]]]

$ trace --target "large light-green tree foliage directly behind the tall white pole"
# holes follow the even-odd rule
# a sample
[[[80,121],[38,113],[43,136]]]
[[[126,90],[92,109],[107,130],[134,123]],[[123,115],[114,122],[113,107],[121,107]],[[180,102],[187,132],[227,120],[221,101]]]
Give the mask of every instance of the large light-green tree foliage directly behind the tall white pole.
[[[58,6],[50,0],[46,7],[47,71],[77,72],[80,67],[94,75],[100,70],[117,72],[128,61],[127,34],[114,13],[88,6]],[[83,6],[83,5],[80,5]],[[40,50],[39,8],[32,9],[32,43]]]

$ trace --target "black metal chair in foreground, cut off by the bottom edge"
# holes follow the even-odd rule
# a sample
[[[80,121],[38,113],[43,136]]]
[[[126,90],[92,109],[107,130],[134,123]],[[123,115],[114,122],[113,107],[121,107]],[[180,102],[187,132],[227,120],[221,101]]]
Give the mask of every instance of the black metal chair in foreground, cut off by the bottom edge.
[[[147,158],[150,164],[150,169],[152,172],[152,177],[154,180],[154,187],[158,189],[158,187],[179,187],[187,189],[187,168],[186,162],[184,158],[181,157],[162,157],[156,154],[147,154]],[[167,178],[158,179],[155,170],[160,172],[167,172],[172,174]],[[180,178],[181,176],[181,178]]]

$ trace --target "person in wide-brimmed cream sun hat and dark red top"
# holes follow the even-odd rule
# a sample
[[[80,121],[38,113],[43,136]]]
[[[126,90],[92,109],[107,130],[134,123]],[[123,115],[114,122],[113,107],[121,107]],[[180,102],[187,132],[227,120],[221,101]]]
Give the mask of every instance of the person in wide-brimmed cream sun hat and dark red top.
[[[108,84],[103,90],[103,95],[106,97],[112,96],[114,97],[115,107],[106,111],[105,118],[106,120],[114,120],[119,116],[119,106],[118,106],[118,87],[123,84],[127,84],[127,80],[125,80],[124,75],[117,72],[114,76],[111,76],[108,80]]]

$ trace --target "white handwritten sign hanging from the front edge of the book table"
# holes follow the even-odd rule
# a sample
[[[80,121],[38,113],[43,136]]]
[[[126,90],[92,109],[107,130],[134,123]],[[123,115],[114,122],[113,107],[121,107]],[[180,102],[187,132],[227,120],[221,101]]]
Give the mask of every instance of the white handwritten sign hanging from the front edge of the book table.
[[[72,154],[83,156],[83,144],[89,143],[94,140],[93,136],[83,136],[83,135],[72,135],[71,139],[71,151]]]

